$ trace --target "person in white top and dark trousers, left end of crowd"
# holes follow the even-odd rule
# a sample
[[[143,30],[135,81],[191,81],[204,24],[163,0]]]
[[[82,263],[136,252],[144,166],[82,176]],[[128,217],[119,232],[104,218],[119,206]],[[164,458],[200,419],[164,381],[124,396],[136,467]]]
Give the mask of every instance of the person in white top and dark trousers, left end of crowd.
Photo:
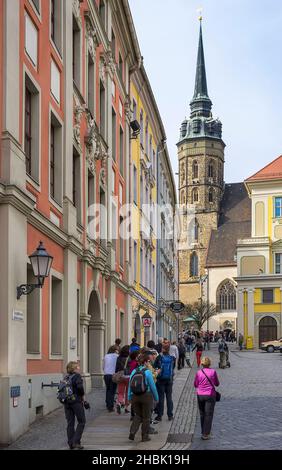
[[[115,393],[117,384],[113,382],[118,358],[118,346],[114,344],[103,359],[104,382],[106,385],[106,406],[109,412],[114,411]]]

